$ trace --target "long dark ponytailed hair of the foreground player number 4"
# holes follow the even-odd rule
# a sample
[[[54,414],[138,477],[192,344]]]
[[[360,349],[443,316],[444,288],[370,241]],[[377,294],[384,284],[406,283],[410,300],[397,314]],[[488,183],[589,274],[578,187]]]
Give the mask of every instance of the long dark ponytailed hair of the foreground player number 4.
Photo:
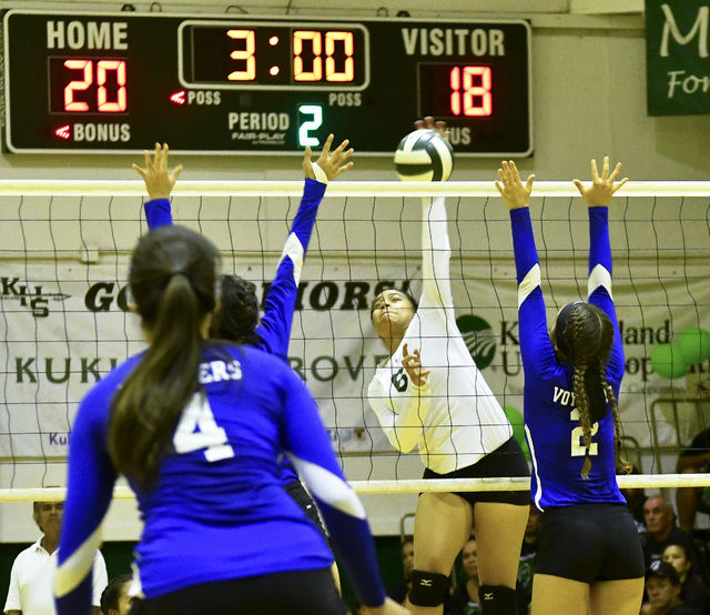
[[[212,243],[182,226],[144,235],[131,259],[129,284],[150,345],[113,399],[109,453],[115,470],[143,490],[154,485],[197,387],[217,260]]]

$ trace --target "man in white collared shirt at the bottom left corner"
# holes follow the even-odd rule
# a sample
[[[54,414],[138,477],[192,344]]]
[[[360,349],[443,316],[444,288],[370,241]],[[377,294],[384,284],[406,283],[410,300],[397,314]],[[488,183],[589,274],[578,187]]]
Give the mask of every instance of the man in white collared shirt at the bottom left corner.
[[[57,569],[63,502],[34,502],[32,516],[42,536],[21,552],[12,564],[4,612],[8,615],[54,613],[52,582]],[[106,565],[100,551],[93,559],[93,615],[100,614],[101,592],[106,586]]]

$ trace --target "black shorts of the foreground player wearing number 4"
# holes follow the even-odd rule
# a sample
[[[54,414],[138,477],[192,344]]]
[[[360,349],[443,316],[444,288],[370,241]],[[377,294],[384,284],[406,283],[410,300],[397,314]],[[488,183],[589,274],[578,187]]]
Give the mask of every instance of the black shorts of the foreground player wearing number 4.
[[[202,583],[145,598],[129,615],[347,615],[329,568]]]

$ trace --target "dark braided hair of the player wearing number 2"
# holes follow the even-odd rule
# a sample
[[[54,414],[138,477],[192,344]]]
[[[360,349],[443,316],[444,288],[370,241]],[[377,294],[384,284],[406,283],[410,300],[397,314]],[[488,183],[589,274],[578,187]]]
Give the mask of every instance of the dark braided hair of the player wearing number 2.
[[[578,301],[562,308],[556,323],[557,347],[575,369],[572,385],[575,406],[579,412],[579,424],[585,443],[585,464],[581,470],[584,478],[591,471],[591,426],[607,414],[607,403],[613,413],[615,452],[619,465],[628,471],[630,465],[619,457],[621,441],[621,421],[619,407],[611,385],[607,381],[606,371],[611,344],[613,326],[609,316],[590,303]]]

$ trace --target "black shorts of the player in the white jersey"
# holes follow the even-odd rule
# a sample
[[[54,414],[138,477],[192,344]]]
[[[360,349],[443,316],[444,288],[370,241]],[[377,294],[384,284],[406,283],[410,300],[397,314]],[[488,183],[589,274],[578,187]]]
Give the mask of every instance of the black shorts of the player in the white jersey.
[[[424,471],[424,478],[490,478],[505,476],[529,476],[530,468],[523,448],[515,437],[503,443],[493,453],[476,462],[474,465],[454,470],[448,474],[437,474],[428,467]],[[476,502],[499,502],[501,504],[517,504],[527,506],[530,503],[530,492],[526,491],[464,491],[454,492],[471,506]]]

